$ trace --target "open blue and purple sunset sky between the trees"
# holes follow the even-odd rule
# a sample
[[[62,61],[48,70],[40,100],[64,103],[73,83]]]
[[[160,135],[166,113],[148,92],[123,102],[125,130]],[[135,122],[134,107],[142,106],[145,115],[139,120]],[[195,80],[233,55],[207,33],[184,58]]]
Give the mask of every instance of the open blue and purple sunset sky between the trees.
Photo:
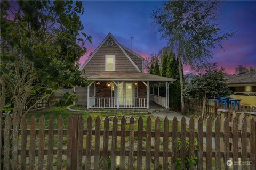
[[[92,36],[92,44],[86,43],[87,53],[80,63],[84,63],[109,32],[119,43],[143,57],[157,53],[166,46],[166,40],[157,33],[150,13],[162,4],[163,1],[83,1],[81,21],[84,32]],[[256,67],[256,1],[225,1],[219,14],[222,31],[234,29],[237,32],[223,42],[224,49],[213,50],[211,62],[225,67],[230,74],[237,65]],[[131,36],[134,37],[132,47]],[[185,74],[191,72],[188,66],[184,71]]]

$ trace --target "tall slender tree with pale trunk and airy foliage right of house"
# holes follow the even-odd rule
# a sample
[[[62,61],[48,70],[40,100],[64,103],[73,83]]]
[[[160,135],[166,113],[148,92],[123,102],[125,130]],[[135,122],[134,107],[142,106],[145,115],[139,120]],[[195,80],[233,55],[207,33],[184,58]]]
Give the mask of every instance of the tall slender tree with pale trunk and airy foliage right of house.
[[[222,33],[218,27],[218,1],[167,1],[152,16],[162,37],[169,40],[169,48],[178,58],[181,87],[181,112],[184,113],[184,64],[195,67],[212,57],[211,50],[222,48],[222,40],[234,32]]]

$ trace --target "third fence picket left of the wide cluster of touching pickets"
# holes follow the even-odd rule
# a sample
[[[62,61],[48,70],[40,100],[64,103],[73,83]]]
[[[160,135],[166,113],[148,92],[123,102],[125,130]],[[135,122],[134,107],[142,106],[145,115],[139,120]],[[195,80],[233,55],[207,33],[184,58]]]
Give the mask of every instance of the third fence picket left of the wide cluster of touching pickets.
[[[42,115],[39,120],[38,169],[44,168],[44,131],[45,118]]]

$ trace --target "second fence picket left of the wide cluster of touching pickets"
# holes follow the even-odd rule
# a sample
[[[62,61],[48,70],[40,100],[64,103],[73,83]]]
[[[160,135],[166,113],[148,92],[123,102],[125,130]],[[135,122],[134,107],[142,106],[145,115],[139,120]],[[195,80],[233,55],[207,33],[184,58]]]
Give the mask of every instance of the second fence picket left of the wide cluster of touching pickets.
[[[49,117],[49,131],[48,131],[48,152],[47,152],[47,169],[52,169],[53,163],[53,141],[54,141],[54,122],[52,115]]]

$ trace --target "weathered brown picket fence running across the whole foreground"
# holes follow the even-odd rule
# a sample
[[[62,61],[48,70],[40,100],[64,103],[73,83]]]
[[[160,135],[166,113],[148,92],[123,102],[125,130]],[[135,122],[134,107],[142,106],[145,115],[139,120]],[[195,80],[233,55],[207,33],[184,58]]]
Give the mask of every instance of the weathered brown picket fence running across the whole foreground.
[[[238,169],[235,163],[239,160],[249,164],[243,164],[242,169],[256,168],[256,124],[253,118],[249,122],[242,119],[241,132],[237,130],[236,117],[231,132],[227,117],[224,118],[223,132],[220,117],[213,123],[214,131],[210,118],[206,120],[206,127],[202,118],[196,122],[191,118],[186,122],[184,117],[181,122],[177,118],[170,122],[167,117],[164,121],[157,117],[154,124],[150,117],[146,122],[142,118],[138,122],[130,118],[129,123],[124,117],[121,122],[115,117],[112,122],[110,124],[108,117],[103,124],[99,117],[95,122],[91,117],[84,122],[82,116],[73,115],[68,118],[67,129],[63,128],[62,117],[55,123],[58,128],[54,129],[54,119],[50,116],[46,129],[44,116],[41,116],[39,124],[34,116],[30,124],[25,117],[21,121],[18,117],[1,119],[1,168],[116,169],[118,166],[119,169],[229,169],[227,160],[233,160],[230,166],[233,169]],[[246,129],[246,124],[250,124],[250,129]],[[223,150],[221,139],[224,140]],[[229,140],[233,141],[232,150]],[[242,142],[241,148],[238,148],[238,140]],[[187,159],[191,157],[196,157],[196,162],[188,167]]]

